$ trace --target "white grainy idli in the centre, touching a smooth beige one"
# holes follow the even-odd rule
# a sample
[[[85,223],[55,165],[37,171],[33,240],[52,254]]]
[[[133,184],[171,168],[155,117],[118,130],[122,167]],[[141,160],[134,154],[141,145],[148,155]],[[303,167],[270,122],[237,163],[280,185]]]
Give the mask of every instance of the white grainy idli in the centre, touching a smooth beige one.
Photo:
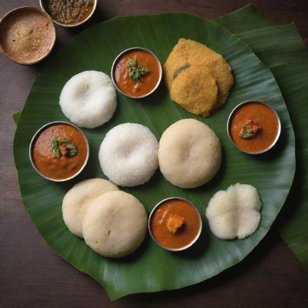
[[[158,141],[144,125],[124,123],[107,132],[99,163],[111,182],[136,186],[148,182],[158,167]]]

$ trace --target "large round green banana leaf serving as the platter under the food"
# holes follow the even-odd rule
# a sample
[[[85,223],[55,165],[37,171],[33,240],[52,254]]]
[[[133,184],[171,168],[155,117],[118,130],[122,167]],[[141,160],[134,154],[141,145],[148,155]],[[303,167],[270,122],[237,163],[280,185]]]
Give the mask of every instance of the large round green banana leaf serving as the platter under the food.
[[[90,157],[77,178],[55,183],[33,170],[27,155],[30,140],[44,124],[67,120],[59,107],[59,95],[72,75],[84,70],[109,73],[115,57],[132,46],[152,50],[164,63],[181,37],[204,43],[229,62],[235,83],[220,110],[208,118],[192,115],[170,100],[162,84],[145,99],[129,99],[118,93],[118,107],[113,118],[93,130],[83,129],[89,140]],[[272,105],[282,122],[278,144],[260,156],[238,151],[226,132],[230,112],[248,99],[260,99]],[[199,188],[184,190],[167,182],[157,170],[148,183],[122,189],[136,196],[148,213],[167,197],[178,196],[192,201],[200,210],[204,225],[196,244],[186,251],[172,253],[147,236],[135,253],[111,259],[95,253],[82,239],[71,234],[62,217],[63,197],[80,180],[105,177],[97,157],[105,134],[117,124],[135,122],[148,126],[159,140],[169,125],[183,118],[204,122],[220,138],[223,160],[214,179]],[[295,172],[294,151],[290,117],[270,70],[245,43],[222,26],[185,13],[119,17],[78,34],[49,59],[35,79],[14,137],[14,160],[22,201],[39,233],[56,253],[99,281],[112,300],[130,293],[192,285],[241,261],[268,232],[286,200]],[[263,203],[261,223],[257,231],[244,240],[220,240],[209,230],[205,208],[214,193],[237,182],[257,188]]]

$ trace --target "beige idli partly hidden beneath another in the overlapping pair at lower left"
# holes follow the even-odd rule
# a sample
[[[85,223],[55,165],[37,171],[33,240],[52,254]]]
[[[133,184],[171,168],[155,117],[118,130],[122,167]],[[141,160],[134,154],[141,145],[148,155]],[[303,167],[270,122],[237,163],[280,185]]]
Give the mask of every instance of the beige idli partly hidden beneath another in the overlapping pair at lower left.
[[[64,196],[63,219],[71,233],[83,237],[82,220],[88,206],[96,197],[119,188],[104,179],[88,179],[75,184]]]

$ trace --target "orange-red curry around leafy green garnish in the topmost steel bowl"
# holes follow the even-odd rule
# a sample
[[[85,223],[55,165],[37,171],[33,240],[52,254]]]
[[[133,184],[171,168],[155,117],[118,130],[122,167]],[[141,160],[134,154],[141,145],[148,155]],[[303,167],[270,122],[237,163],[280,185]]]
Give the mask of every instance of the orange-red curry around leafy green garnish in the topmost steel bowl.
[[[149,72],[142,75],[142,81],[134,82],[128,74],[128,60],[134,59],[136,67],[147,67]],[[122,55],[116,64],[114,72],[115,83],[119,89],[130,96],[144,96],[150,93],[160,78],[160,68],[156,59],[147,51],[133,50]]]

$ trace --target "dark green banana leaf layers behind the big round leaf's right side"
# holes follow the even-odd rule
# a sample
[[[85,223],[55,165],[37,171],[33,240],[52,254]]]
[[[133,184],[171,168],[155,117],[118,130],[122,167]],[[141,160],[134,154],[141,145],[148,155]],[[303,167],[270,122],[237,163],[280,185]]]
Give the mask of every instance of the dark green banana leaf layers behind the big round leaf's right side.
[[[249,16],[247,18],[247,16]],[[308,270],[308,50],[294,23],[270,25],[252,5],[215,20],[243,40],[270,68],[296,137],[297,168],[279,233]],[[269,26],[270,28],[265,28]]]

